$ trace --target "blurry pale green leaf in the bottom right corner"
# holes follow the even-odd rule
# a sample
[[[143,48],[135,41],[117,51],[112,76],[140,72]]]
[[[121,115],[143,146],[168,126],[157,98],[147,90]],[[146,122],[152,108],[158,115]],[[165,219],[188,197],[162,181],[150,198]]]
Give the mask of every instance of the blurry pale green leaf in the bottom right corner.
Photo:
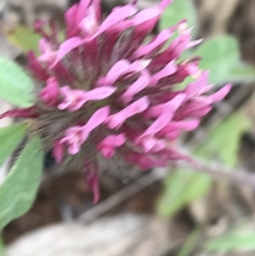
[[[229,252],[233,250],[254,250],[255,232],[234,232],[225,236],[220,236],[207,242],[208,250],[217,252]]]

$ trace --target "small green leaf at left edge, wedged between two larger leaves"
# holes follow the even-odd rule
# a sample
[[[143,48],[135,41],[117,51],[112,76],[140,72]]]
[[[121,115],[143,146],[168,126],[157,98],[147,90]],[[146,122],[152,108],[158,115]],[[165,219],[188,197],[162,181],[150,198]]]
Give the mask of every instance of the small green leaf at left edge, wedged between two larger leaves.
[[[0,129],[0,166],[6,158],[14,151],[17,145],[20,144],[26,133],[26,125],[23,123],[8,126]]]

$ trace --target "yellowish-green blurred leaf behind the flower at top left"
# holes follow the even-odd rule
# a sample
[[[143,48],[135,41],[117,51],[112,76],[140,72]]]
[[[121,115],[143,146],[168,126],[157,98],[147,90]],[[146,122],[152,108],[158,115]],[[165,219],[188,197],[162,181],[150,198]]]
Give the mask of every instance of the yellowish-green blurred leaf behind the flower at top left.
[[[10,31],[7,35],[8,41],[20,48],[24,53],[33,50],[38,54],[38,43],[41,38],[31,28],[20,26]]]

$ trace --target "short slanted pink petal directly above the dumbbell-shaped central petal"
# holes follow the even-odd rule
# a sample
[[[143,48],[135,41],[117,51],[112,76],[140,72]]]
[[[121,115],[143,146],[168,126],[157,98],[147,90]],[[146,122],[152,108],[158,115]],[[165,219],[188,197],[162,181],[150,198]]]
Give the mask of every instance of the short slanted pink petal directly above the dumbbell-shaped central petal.
[[[133,82],[130,86],[127,87],[126,92],[122,94],[121,100],[124,101],[124,103],[129,102],[133,99],[133,96],[137,93],[139,93],[141,90],[146,88],[146,86],[149,84],[150,81],[150,75],[148,71],[142,71],[141,76]]]

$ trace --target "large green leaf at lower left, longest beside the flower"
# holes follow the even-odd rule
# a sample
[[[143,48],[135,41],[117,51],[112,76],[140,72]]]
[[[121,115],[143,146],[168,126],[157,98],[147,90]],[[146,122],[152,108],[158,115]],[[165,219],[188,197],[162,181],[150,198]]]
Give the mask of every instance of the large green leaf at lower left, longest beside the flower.
[[[26,145],[0,186],[0,228],[31,208],[42,176],[41,140],[35,136]]]

